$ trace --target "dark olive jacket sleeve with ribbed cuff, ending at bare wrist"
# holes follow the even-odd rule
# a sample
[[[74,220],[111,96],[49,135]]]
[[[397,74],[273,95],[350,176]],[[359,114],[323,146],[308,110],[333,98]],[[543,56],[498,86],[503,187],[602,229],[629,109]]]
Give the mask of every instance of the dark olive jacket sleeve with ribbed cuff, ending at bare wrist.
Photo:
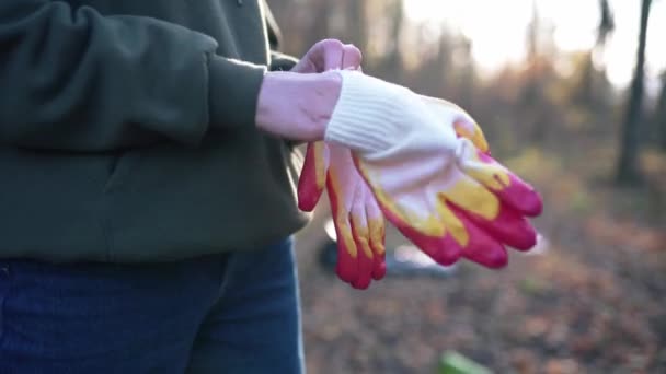
[[[216,49],[207,35],[151,17],[2,0],[0,143],[103,151],[165,137],[196,145],[209,128],[253,126],[265,67]]]

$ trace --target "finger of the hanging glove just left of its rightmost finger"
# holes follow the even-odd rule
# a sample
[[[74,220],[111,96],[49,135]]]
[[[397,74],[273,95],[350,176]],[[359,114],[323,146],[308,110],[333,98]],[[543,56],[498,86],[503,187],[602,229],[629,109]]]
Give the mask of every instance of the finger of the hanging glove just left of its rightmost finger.
[[[370,248],[370,234],[368,222],[365,217],[364,207],[356,200],[351,214],[352,235],[358,248],[356,279],[352,285],[356,289],[365,290],[370,285],[372,279],[374,253]]]

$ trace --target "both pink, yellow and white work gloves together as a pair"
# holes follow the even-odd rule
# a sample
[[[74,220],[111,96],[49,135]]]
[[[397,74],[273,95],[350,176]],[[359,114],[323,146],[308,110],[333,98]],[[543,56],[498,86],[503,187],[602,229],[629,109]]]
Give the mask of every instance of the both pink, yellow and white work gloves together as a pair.
[[[359,71],[326,73],[342,91],[324,141],[308,144],[298,199],[311,211],[326,188],[340,279],[365,289],[384,276],[383,218],[441,265],[501,268],[505,246],[536,244],[539,195],[491,157],[464,110]]]

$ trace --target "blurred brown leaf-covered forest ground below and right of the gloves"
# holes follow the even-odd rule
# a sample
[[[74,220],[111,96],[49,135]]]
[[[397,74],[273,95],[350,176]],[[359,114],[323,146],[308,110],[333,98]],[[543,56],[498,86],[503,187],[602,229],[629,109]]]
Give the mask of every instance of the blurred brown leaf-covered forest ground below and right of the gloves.
[[[648,178],[631,189],[610,187],[604,163],[537,151],[507,163],[543,195],[547,243],[501,271],[389,273],[356,291],[318,265],[317,212],[297,239],[310,373],[434,373],[445,350],[497,373],[666,372],[664,156],[648,153]]]

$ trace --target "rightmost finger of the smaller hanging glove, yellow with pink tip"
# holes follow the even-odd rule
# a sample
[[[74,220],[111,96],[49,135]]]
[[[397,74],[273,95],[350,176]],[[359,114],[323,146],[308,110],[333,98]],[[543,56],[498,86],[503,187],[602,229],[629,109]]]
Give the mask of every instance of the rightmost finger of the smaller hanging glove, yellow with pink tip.
[[[386,265],[386,226],[377,200],[367,185],[363,185],[366,217],[370,230],[370,248],[374,253],[372,279],[380,280],[387,273]]]

